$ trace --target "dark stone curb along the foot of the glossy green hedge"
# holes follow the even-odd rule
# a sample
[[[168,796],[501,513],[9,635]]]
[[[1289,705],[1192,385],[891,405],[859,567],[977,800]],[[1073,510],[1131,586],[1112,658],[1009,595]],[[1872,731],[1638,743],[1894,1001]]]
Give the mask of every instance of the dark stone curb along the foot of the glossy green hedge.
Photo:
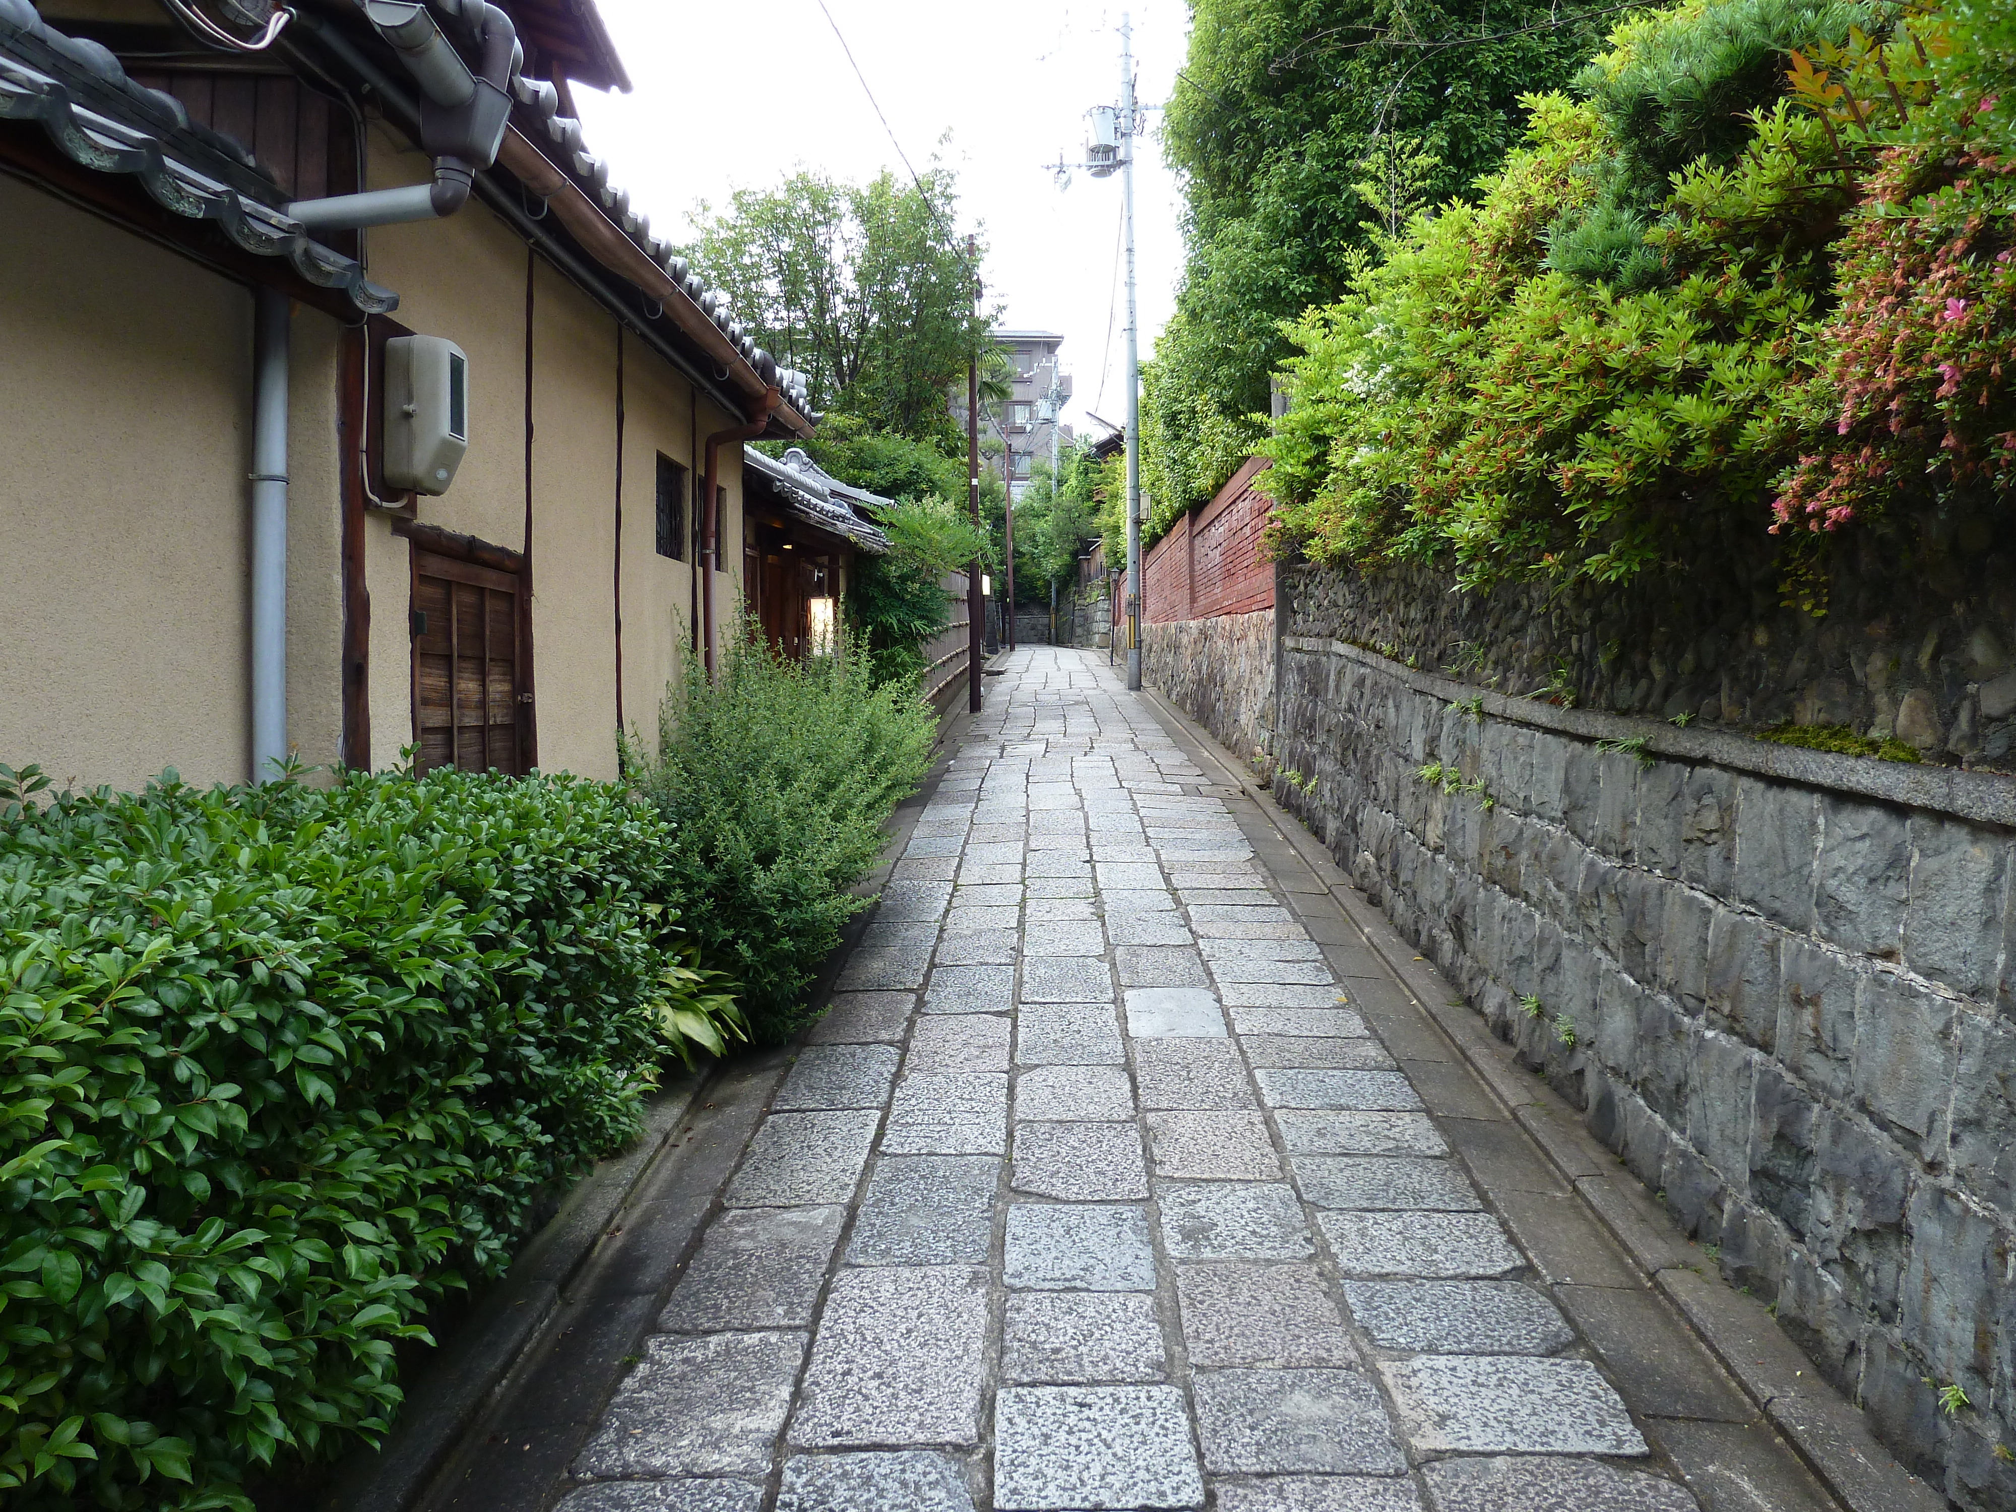
[[[427,1369],[405,1385],[405,1411],[385,1445],[335,1468],[329,1512],[405,1512],[484,1417],[512,1369],[540,1339],[569,1284],[583,1272],[657,1165],[673,1131],[708,1087],[714,1064],[681,1077],[645,1103],[645,1131],[621,1155],[597,1161],[524,1252],[448,1337]]]

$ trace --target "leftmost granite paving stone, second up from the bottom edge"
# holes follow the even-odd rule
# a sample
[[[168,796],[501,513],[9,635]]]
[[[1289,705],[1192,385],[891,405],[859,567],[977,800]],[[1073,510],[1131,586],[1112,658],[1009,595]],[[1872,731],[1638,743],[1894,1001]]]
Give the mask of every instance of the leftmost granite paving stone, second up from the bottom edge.
[[[766,1476],[802,1359],[802,1333],[653,1335],[575,1472]]]

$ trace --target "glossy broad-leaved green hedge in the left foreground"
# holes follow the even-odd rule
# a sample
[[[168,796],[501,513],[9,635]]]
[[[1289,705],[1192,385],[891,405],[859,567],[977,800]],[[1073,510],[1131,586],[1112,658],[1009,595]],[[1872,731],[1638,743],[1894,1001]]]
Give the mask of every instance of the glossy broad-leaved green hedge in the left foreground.
[[[22,786],[0,1502],[250,1508],[258,1466],[387,1427],[397,1341],[734,1008],[681,966],[669,827],[607,784]]]

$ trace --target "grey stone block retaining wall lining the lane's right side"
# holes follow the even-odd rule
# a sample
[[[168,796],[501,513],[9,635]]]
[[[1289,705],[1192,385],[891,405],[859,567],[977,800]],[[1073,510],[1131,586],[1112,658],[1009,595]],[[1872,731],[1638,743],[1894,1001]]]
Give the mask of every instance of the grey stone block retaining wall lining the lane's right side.
[[[2016,782],[1480,694],[1314,609],[1284,806],[1901,1460],[2016,1506]],[[1212,625],[1151,681],[1246,750],[1272,661]]]

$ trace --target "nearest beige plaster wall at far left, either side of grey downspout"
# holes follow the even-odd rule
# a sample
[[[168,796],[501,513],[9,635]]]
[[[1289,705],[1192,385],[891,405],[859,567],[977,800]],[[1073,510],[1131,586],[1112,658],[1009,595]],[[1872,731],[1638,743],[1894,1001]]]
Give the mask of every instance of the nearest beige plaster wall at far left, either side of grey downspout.
[[[8,177],[0,226],[0,762],[244,780],[252,294]],[[335,323],[298,312],[294,343],[290,734],[323,762]]]

